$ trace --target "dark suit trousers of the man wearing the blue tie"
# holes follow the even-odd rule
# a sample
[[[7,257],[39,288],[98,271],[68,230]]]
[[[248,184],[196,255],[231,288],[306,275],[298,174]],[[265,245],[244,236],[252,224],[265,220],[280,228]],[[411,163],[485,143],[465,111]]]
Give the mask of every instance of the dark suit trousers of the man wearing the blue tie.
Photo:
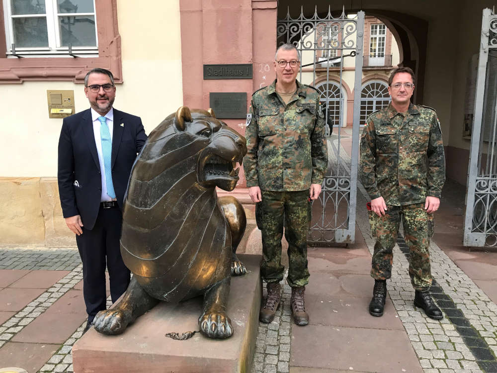
[[[89,322],[98,311],[106,309],[106,267],[112,303],[128,288],[130,270],[124,265],[119,245],[121,226],[122,214],[119,207],[100,206],[94,227],[88,230],[83,226],[83,234],[76,236],[83,262],[83,297]]]

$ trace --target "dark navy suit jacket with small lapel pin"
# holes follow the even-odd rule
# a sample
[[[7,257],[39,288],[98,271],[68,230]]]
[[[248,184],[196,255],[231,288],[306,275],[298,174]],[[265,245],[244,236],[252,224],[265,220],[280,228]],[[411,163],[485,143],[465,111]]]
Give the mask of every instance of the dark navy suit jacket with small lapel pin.
[[[121,211],[131,167],[146,140],[140,117],[114,109],[112,183]],[[81,215],[86,229],[93,228],[100,208],[100,172],[90,109],[64,118],[58,163],[62,213],[65,218]]]

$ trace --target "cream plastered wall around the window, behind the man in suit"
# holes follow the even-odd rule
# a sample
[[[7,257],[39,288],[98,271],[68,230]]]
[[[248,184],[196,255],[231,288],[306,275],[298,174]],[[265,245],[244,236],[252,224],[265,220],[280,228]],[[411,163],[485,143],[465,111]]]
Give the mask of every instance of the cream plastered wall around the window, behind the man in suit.
[[[178,0],[118,0],[123,84],[114,106],[142,117],[150,133],[182,104]],[[48,117],[47,90],[74,90],[76,112],[89,107],[83,84],[0,85],[0,177],[57,176],[62,119]]]

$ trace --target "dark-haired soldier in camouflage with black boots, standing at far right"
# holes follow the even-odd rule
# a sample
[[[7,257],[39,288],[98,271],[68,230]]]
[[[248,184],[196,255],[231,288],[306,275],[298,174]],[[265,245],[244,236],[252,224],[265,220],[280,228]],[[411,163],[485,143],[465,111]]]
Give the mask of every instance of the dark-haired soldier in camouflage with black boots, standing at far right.
[[[428,317],[441,319],[442,312],[429,293],[428,248],[433,235],[433,212],[438,209],[445,182],[442,133],[435,110],[410,102],[413,90],[413,71],[394,70],[389,79],[390,105],[368,117],[361,135],[361,180],[371,197],[369,218],[376,238],[371,266],[375,285],[369,313],[383,315],[392,249],[402,217],[410,249],[414,305]]]

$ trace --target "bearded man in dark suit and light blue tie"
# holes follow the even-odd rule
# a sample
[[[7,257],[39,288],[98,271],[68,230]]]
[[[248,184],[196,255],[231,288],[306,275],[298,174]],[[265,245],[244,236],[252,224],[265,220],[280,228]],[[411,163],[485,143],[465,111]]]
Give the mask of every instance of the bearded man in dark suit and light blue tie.
[[[58,182],[62,212],[76,234],[83,262],[86,331],[97,312],[106,309],[105,267],[112,302],[130,281],[119,247],[122,208],[131,168],[147,135],[139,117],[113,109],[116,87],[110,71],[88,72],[84,93],[91,108],[62,122]]]

